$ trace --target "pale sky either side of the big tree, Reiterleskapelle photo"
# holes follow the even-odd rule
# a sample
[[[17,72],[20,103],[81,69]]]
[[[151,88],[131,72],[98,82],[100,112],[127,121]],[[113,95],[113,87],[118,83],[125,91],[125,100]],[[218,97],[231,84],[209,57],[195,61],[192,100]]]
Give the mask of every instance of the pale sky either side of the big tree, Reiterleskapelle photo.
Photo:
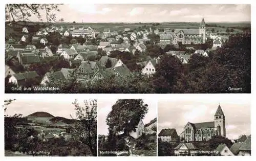
[[[106,125],[106,117],[116,103],[117,99],[100,99],[98,101],[98,134],[108,135],[108,125]],[[149,123],[157,117],[157,101],[152,99],[143,99],[148,105],[148,111],[142,120],[144,124]]]

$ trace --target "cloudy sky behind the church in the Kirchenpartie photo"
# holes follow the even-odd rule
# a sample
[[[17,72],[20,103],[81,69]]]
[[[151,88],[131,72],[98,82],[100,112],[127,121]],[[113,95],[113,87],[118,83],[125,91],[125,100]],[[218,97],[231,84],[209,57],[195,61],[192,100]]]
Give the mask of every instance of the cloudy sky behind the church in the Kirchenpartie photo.
[[[158,102],[158,133],[163,128],[175,128],[178,135],[187,122],[199,123],[214,121],[214,114],[221,106],[226,121],[226,137],[238,139],[250,132],[250,101],[239,100],[199,100]]]

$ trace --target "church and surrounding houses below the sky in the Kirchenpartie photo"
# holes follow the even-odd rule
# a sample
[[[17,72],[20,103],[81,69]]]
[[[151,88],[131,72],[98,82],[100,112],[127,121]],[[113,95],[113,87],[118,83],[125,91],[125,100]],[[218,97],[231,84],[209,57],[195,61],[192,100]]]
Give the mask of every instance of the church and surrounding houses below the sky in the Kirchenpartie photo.
[[[159,131],[158,156],[170,155],[250,156],[251,135],[241,134],[237,139],[229,140],[225,115],[219,105],[212,122],[188,122],[180,134],[172,127]]]

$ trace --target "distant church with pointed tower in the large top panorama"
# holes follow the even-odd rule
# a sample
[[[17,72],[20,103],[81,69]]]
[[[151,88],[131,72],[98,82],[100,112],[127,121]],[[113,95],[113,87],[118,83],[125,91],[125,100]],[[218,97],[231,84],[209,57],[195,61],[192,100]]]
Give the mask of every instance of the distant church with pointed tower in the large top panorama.
[[[175,29],[171,36],[173,44],[203,44],[206,40],[206,27],[204,17],[199,25],[199,29]]]

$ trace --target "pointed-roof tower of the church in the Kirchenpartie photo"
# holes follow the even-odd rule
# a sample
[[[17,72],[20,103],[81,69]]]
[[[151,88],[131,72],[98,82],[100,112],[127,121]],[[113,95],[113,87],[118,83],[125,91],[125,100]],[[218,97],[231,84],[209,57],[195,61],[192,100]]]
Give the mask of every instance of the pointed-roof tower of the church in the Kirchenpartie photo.
[[[220,105],[214,115],[214,125],[217,127],[217,133],[226,137],[225,116]]]

